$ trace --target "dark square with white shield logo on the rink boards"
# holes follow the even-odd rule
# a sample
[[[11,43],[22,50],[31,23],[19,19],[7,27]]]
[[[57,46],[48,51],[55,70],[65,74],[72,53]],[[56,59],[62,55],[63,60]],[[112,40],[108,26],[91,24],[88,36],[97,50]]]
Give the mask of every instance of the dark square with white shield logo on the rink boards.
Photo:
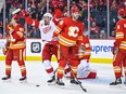
[[[30,48],[32,48],[32,53],[40,53],[41,52],[40,42],[32,42]]]

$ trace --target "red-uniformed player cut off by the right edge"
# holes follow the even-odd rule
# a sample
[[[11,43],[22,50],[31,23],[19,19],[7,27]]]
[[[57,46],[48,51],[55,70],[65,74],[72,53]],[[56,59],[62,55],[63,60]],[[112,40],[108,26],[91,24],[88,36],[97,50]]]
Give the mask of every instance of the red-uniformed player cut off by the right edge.
[[[115,81],[110,85],[116,85],[122,83],[122,65],[124,68],[125,83],[126,83],[126,9],[118,10],[119,21],[116,23],[116,37],[113,48],[113,69],[115,75]]]

